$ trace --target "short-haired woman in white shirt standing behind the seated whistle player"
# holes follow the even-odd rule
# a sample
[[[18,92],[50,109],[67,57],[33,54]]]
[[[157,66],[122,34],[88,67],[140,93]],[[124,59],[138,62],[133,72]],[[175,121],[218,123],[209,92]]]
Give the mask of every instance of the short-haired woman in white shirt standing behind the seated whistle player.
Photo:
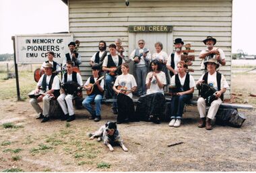
[[[170,84],[169,70],[166,68],[168,54],[162,50],[163,46],[161,42],[156,42],[155,48],[156,52],[154,52],[152,55],[152,60],[159,60],[160,64],[162,65],[162,72],[165,73],[166,84],[168,86]]]

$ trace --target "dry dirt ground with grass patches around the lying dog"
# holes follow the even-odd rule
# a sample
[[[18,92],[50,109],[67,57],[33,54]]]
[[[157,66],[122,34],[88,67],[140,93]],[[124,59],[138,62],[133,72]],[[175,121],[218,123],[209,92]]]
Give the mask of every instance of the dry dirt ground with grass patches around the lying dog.
[[[179,128],[149,122],[118,125],[129,152],[90,140],[107,120],[115,121],[110,105],[102,106],[102,120],[90,121],[85,109],[76,110],[70,123],[51,119],[40,123],[28,100],[3,100],[0,105],[0,171],[256,171],[256,110],[241,128],[197,127],[196,107],[188,107]],[[15,127],[3,128],[5,123]],[[177,146],[170,143],[183,141]]]

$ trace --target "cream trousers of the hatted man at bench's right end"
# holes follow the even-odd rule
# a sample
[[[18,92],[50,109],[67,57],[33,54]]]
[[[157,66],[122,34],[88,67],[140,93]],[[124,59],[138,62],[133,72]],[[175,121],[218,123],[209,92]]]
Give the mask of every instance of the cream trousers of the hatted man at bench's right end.
[[[217,100],[215,100],[211,103],[211,106],[207,113],[207,117],[209,119],[215,118],[216,113],[220,107],[220,104],[222,104],[222,99],[220,99],[220,98],[218,98]],[[206,104],[205,104],[205,100],[203,99],[203,97],[200,97],[197,100],[197,109],[199,111],[200,118],[206,117]]]

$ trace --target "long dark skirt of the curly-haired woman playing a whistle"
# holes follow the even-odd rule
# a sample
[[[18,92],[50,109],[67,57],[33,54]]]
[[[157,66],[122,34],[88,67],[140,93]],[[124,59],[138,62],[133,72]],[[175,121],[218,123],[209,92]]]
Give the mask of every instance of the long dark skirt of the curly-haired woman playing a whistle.
[[[140,97],[137,103],[135,116],[141,121],[149,121],[150,115],[162,117],[165,97],[162,93],[154,93]]]

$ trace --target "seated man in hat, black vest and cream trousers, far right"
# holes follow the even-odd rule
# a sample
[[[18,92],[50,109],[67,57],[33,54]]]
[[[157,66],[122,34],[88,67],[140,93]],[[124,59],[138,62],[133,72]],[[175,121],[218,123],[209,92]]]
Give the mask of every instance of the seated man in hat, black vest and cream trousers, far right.
[[[204,62],[205,66],[207,66],[207,72],[199,78],[197,81],[197,89],[200,88],[202,82],[209,84],[210,86],[216,89],[216,100],[214,100],[209,108],[206,117],[206,103],[205,99],[203,99],[203,92],[200,93],[201,97],[197,100],[197,109],[200,115],[200,121],[198,127],[205,127],[205,129],[210,130],[212,129],[211,121],[215,118],[216,113],[222,103],[223,94],[228,89],[228,82],[223,74],[216,72],[219,64],[215,58],[210,58],[207,62]]]

